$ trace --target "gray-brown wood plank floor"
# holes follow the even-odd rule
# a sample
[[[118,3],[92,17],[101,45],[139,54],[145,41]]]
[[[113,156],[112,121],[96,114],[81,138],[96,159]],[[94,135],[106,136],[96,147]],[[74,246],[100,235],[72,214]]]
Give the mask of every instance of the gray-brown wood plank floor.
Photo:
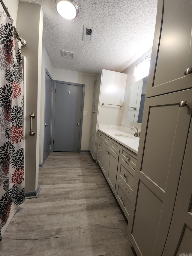
[[[127,223],[89,153],[53,152],[3,235],[1,256],[134,256]]]

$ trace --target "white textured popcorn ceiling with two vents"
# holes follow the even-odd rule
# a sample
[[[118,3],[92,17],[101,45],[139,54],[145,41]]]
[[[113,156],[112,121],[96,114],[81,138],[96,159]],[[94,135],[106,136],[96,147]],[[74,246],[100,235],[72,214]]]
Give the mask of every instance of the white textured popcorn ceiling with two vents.
[[[152,47],[157,0],[75,0],[79,14],[64,20],[55,0],[19,0],[42,5],[43,44],[53,67],[99,74],[122,72]],[[95,28],[92,43],[82,41],[83,25]],[[61,56],[74,52],[74,59]]]

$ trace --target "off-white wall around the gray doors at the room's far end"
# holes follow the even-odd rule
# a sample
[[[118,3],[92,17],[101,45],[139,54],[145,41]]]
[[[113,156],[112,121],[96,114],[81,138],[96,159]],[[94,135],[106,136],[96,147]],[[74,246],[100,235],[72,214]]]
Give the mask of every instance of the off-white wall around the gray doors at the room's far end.
[[[45,107],[45,68],[48,70],[53,80],[65,81],[70,83],[85,84],[85,98],[83,113],[86,110],[87,115],[83,115],[81,150],[89,150],[89,137],[91,130],[91,110],[93,103],[94,84],[96,75],[86,74],[60,68],[53,68],[49,56],[43,47],[44,64],[42,67],[42,85],[41,85],[41,123],[40,123],[40,154],[39,164],[43,163],[43,140],[44,140],[44,107]]]

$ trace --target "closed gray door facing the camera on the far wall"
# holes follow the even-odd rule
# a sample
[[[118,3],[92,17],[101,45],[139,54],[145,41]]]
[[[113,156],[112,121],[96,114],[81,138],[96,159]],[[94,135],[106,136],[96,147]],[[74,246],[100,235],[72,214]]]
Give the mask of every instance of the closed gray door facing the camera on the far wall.
[[[79,152],[83,86],[55,83],[53,151]]]

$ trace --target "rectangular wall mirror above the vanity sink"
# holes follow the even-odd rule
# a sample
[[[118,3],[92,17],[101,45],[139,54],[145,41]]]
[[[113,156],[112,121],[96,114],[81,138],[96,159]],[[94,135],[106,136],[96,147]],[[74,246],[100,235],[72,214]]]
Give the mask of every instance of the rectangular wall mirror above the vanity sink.
[[[141,123],[143,117],[143,107],[147,88],[147,77],[135,82],[131,86],[131,94],[128,108],[128,122]]]

